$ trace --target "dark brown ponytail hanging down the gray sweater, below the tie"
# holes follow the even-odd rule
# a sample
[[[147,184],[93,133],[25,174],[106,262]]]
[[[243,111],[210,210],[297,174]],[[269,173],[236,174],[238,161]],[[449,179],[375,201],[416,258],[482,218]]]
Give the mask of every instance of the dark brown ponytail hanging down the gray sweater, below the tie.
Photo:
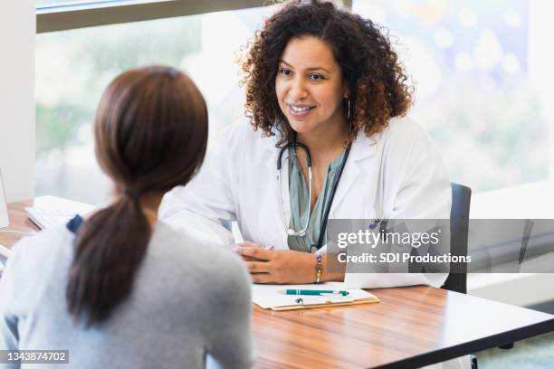
[[[85,316],[87,326],[95,325],[129,296],[150,233],[138,199],[129,195],[82,224],[66,292],[73,317]]]

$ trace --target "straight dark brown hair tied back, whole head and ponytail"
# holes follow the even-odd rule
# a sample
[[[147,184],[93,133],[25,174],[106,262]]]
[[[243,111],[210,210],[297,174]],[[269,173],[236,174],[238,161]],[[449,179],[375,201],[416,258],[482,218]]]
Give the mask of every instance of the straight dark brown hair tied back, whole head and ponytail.
[[[204,160],[205,100],[175,69],[126,71],[104,92],[94,134],[100,167],[120,195],[83,222],[75,239],[67,307],[88,326],[129,296],[146,254],[151,227],[140,196],[185,185]]]

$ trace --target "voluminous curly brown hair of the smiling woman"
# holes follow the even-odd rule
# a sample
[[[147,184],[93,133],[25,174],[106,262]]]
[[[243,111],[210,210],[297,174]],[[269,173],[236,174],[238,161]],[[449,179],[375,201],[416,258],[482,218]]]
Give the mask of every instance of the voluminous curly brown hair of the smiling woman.
[[[388,38],[387,28],[330,2],[287,2],[265,20],[247,43],[240,61],[246,85],[245,115],[263,136],[275,135],[282,147],[293,135],[275,93],[279,60],[292,38],[312,36],[330,45],[349,88],[349,142],[359,130],[369,136],[386,128],[390,118],[404,116],[412,105],[413,86]],[[347,109],[345,99],[345,109]],[[275,128],[275,129],[273,129]]]

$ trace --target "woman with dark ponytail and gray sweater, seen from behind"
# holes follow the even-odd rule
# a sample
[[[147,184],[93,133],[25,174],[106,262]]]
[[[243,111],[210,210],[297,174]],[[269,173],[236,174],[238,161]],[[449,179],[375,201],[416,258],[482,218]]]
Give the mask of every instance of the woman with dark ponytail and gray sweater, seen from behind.
[[[14,245],[0,350],[68,350],[80,369],[253,364],[242,261],[158,222],[163,195],[201,166],[207,132],[205,100],[184,73],[153,66],[110,83],[94,137],[113,200]]]

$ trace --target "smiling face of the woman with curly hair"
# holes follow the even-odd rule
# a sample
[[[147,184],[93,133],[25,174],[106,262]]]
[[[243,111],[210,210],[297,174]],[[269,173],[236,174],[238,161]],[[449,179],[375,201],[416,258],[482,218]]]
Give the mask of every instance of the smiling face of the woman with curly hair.
[[[275,78],[282,113],[298,133],[345,125],[346,83],[330,46],[315,37],[293,38],[282,52]]]

